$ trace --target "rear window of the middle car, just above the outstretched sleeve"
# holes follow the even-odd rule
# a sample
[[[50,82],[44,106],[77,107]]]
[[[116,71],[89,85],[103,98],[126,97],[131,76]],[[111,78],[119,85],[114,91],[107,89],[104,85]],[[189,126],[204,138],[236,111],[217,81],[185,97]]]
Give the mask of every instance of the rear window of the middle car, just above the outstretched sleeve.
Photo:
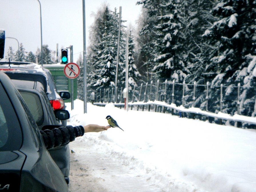
[[[43,107],[41,104],[41,100],[36,93],[27,92],[27,91],[19,91],[22,98],[26,102],[30,112],[32,113],[33,118],[37,126],[43,124]]]

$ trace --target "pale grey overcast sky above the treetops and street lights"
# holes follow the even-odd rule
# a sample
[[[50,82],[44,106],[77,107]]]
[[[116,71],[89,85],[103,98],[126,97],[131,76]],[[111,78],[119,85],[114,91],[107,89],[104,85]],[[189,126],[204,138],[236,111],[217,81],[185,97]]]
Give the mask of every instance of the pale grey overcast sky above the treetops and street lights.
[[[74,62],[83,51],[83,12],[82,0],[39,0],[42,11],[43,44],[56,51],[73,45]],[[89,27],[94,21],[92,13],[105,2],[114,11],[122,6],[122,19],[126,25],[135,25],[140,14],[138,0],[85,0],[86,4],[86,46],[89,45]],[[22,43],[25,51],[41,49],[40,9],[37,0],[0,0],[0,29],[5,29],[5,37],[14,37]],[[5,40],[5,55],[11,46],[18,49],[15,39]]]

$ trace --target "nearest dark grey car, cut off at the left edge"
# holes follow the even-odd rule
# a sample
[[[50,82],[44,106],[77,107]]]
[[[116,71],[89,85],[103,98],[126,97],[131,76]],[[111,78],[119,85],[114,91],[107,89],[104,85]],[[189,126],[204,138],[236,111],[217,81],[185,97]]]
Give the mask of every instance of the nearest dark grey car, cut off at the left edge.
[[[0,71],[0,185],[6,191],[68,192],[25,101]]]

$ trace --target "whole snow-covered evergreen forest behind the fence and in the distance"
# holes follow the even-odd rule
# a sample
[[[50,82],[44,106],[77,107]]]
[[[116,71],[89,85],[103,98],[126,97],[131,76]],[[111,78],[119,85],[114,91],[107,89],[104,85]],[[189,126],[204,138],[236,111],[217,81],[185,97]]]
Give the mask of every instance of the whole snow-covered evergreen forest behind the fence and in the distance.
[[[140,0],[137,5],[142,9],[136,26],[126,26],[121,18],[120,34],[119,10],[110,10],[105,3],[94,13],[86,56],[89,91],[115,87],[117,63],[117,85],[124,87],[129,31],[129,91],[157,80],[185,82],[186,107],[191,107],[190,85],[196,82],[202,86],[194,105],[205,110],[208,82],[209,111],[219,111],[222,86],[224,113],[234,115],[239,103],[240,114],[256,116],[256,0]],[[43,49],[43,63],[55,63],[54,52],[47,45]],[[24,54],[21,44],[16,53],[9,47],[7,57],[35,62],[40,53]],[[82,56],[77,63],[83,68]],[[82,77],[81,73],[81,90]],[[182,91],[182,86],[177,89]],[[82,91],[79,95],[82,99]]]

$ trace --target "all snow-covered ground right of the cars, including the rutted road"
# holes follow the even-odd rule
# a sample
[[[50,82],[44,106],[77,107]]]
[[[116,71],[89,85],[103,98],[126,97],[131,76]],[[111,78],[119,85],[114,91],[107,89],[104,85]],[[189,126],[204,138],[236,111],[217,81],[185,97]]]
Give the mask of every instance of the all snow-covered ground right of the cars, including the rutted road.
[[[70,191],[256,192],[256,131],[148,111],[74,101],[70,125],[124,129],[70,143]]]

